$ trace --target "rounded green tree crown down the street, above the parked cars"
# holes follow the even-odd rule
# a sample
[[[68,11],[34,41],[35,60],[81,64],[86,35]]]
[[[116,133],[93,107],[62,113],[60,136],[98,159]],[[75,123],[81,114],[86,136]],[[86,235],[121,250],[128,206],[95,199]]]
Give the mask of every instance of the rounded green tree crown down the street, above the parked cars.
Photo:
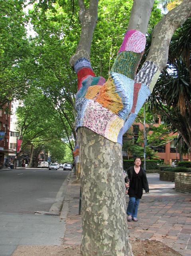
[[[63,130],[59,114],[51,108],[40,89],[31,88],[28,96],[17,109],[18,129],[23,140],[22,150],[32,144],[35,158],[41,151],[54,148],[54,157],[63,158],[63,138],[67,138]],[[69,131],[69,127],[67,127]],[[67,141],[67,139],[66,139]],[[60,154],[55,148],[60,148]],[[61,149],[62,148],[62,149]],[[37,162],[37,161],[36,161]]]

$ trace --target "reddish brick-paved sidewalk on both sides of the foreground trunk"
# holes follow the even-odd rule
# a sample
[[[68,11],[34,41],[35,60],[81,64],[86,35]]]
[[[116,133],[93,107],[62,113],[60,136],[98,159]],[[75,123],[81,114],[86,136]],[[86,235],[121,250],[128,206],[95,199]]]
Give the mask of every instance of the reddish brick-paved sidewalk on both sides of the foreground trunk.
[[[191,196],[174,191],[172,182],[159,180],[159,174],[147,174],[150,193],[140,200],[138,222],[128,222],[130,240],[159,240],[183,256],[191,256]],[[68,188],[68,214],[64,244],[81,241],[79,213],[80,184],[71,175]],[[128,203],[128,196],[126,196]]]

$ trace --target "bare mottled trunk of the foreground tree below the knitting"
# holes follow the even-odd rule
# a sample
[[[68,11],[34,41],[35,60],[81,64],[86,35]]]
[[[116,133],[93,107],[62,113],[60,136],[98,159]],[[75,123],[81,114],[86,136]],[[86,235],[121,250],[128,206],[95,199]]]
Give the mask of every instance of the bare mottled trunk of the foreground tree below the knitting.
[[[122,148],[78,130],[82,189],[83,256],[132,256],[128,241]]]

